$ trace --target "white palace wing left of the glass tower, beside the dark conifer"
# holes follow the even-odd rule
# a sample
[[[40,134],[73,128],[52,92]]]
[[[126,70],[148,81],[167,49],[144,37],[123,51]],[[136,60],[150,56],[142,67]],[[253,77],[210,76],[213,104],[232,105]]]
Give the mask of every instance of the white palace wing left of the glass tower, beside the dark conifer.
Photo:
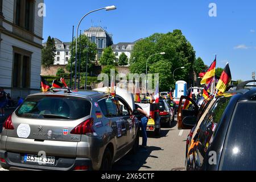
[[[70,43],[62,42],[61,40],[54,38],[56,55],[54,60],[54,65],[66,65],[68,60],[71,58],[71,50],[69,49]],[[43,43],[43,46],[46,46],[46,42]]]

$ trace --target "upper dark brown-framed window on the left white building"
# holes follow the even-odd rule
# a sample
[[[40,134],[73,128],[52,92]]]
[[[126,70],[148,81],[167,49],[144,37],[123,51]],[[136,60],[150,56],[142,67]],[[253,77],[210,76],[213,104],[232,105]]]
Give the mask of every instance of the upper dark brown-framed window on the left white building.
[[[34,3],[33,0],[15,0],[14,3],[14,22],[28,31],[34,28]]]

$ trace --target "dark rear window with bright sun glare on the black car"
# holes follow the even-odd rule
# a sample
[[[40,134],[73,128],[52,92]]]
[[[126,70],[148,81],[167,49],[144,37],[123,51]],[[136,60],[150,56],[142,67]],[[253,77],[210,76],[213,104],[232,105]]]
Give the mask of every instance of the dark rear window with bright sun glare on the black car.
[[[238,102],[224,145],[220,169],[256,170],[256,102]]]

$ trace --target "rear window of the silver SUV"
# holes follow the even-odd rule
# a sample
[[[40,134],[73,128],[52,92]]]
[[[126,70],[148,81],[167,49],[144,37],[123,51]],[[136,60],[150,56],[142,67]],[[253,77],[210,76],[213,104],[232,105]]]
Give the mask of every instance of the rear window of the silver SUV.
[[[28,97],[15,111],[18,117],[76,120],[90,115],[92,105],[82,98],[70,96]]]

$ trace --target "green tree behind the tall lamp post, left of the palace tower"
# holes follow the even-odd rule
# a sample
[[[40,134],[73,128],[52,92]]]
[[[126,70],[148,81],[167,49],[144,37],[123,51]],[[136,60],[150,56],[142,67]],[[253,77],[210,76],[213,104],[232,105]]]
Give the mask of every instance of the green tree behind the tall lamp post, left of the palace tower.
[[[77,46],[77,73],[79,71],[79,54],[81,50],[81,65],[80,65],[80,72],[85,73],[86,72],[86,57],[88,52],[88,73],[92,71],[93,63],[92,61],[95,60],[96,53],[97,53],[97,45],[94,43],[90,43],[90,40],[87,38],[86,35],[81,35],[81,48],[80,48],[80,37],[78,38],[78,46]],[[70,43],[72,45],[72,42]],[[72,60],[72,72],[74,76],[75,72],[75,57],[76,57],[76,51],[75,51],[75,45],[76,45],[76,39],[74,39],[73,42],[73,55],[72,59],[68,60],[68,64],[66,65],[66,69],[70,71],[71,69],[71,60]],[[70,47],[71,48],[71,47]]]

